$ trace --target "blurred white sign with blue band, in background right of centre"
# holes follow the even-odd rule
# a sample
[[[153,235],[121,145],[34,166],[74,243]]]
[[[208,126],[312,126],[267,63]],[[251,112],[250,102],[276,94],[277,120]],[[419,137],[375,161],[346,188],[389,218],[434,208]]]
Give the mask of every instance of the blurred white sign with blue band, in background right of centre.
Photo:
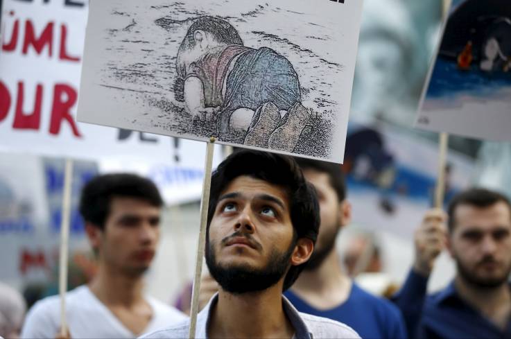
[[[343,171],[353,221],[365,229],[410,238],[435,205],[438,148],[397,128],[350,123]],[[441,207],[469,186],[475,171],[474,159],[447,154]]]

